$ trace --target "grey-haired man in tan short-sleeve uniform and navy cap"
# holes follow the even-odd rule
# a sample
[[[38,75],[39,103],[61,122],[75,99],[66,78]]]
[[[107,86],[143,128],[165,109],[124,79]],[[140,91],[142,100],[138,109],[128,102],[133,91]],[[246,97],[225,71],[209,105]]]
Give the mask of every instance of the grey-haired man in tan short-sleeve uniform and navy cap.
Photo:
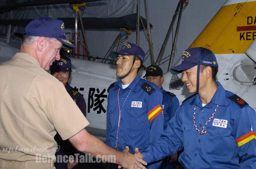
[[[60,59],[62,43],[75,47],[66,40],[63,21],[34,19],[25,28],[20,53],[0,65],[0,168],[55,168],[57,130],[83,153],[115,155],[125,168],[144,169],[140,158],[90,135],[84,129],[89,122],[64,85],[45,71]]]

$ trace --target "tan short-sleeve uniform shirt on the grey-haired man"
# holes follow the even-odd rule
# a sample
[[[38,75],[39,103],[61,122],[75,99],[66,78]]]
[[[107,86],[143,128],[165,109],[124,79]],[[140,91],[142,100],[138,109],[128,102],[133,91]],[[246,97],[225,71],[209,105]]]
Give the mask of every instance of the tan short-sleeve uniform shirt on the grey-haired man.
[[[52,158],[56,130],[66,140],[89,125],[64,85],[31,55],[17,53],[0,72],[0,159]]]

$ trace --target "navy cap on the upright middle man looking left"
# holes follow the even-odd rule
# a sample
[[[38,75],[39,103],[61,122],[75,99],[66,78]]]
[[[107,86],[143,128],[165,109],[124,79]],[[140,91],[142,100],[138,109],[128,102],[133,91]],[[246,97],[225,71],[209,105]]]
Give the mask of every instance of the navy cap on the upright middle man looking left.
[[[117,58],[117,55],[136,55],[141,62],[144,62],[145,52],[139,47],[139,45],[125,42],[119,51],[113,51],[109,54],[109,56],[113,59]]]

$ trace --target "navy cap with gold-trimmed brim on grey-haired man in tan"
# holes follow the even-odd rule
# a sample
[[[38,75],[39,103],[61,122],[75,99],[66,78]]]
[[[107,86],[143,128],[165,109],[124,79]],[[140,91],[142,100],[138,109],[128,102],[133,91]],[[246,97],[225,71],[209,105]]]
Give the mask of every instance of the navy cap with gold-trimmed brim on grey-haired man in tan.
[[[76,48],[70,41],[66,39],[64,22],[55,18],[42,17],[33,19],[26,26],[23,35],[56,38],[61,43],[71,48]]]

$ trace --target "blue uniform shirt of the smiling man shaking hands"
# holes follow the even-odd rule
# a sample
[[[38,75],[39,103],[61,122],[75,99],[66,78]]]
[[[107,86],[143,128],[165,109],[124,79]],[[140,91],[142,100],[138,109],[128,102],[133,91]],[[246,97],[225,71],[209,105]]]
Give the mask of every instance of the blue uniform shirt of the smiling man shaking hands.
[[[147,163],[172,155],[184,145],[179,161],[185,168],[256,168],[256,113],[243,99],[216,84],[217,91],[204,107],[198,94],[181,104],[160,140],[142,152]],[[205,125],[205,134],[196,130],[193,119],[199,131]]]

